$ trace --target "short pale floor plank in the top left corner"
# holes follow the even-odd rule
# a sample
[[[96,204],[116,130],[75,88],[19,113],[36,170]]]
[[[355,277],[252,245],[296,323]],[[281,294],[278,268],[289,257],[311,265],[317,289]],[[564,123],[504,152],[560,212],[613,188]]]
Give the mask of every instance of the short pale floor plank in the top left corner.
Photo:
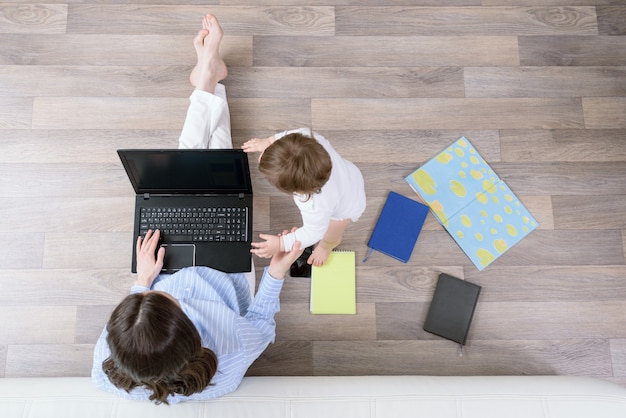
[[[2,33],[65,33],[67,4],[0,4]]]

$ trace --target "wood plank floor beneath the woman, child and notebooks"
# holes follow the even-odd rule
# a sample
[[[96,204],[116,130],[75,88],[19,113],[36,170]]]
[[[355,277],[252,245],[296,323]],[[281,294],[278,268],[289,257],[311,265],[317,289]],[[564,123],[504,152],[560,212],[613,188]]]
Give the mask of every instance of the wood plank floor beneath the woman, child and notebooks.
[[[358,262],[354,316],[311,315],[308,280],[288,280],[249,374],[626,385],[624,0],[126,3],[0,3],[0,376],[89,375],[133,282],[115,151],[176,147],[212,12],[235,146],[312,125],[362,170],[368,207],[341,245],[358,260],[387,193],[414,196],[403,178],[461,135],[540,223],[479,272],[429,215],[408,264]],[[251,164],[255,231],[297,225]],[[483,286],[463,357],[422,329],[439,272]]]

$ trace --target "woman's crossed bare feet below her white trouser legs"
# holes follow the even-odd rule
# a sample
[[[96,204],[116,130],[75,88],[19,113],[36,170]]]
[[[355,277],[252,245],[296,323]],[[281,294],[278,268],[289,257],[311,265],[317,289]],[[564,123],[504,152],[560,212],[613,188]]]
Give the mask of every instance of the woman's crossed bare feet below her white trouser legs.
[[[194,47],[196,46],[196,40],[198,41],[198,46],[201,47],[196,49],[198,64],[192,71],[190,79],[192,79],[192,85],[197,89],[213,93],[217,83],[228,76],[226,64],[220,57],[220,43],[222,42],[224,32],[217,18],[211,14],[204,17],[202,26],[203,30],[198,32],[198,35],[194,38]],[[202,38],[204,31],[206,31],[206,36]]]

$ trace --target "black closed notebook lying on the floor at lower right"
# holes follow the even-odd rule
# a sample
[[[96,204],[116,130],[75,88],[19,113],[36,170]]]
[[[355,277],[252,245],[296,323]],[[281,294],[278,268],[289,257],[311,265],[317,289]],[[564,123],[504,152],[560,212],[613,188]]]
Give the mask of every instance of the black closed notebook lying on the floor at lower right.
[[[441,273],[424,330],[465,345],[480,290],[477,284]]]

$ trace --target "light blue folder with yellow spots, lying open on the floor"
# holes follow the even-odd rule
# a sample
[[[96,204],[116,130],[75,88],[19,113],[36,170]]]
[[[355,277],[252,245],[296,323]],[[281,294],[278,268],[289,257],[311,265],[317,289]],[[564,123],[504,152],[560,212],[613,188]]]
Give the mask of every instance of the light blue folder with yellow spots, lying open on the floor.
[[[465,137],[406,177],[433,215],[483,270],[538,223]]]

